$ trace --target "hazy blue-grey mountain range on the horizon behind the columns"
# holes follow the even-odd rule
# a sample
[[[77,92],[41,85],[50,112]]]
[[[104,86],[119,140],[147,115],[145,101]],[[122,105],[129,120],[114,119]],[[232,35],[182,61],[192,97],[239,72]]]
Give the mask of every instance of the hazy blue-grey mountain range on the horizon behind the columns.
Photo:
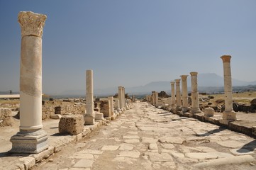
[[[177,77],[179,78],[179,77]],[[171,81],[171,80],[170,80]],[[151,91],[166,91],[170,94],[171,85],[170,81],[152,81],[145,86],[134,86],[126,87],[126,93],[128,94],[150,94]],[[223,77],[218,76],[215,73],[206,73],[198,74],[197,77],[199,91],[205,92],[214,92],[223,90],[224,80]],[[187,79],[188,90],[191,90],[191,78],[190,76]],[[256,85],[256,81],[240,81],[237,79],[232,79],[233,86],[248,86]],[[181,84],[182,88],[182,84]],[[118,87],[106,88],[106,89],[94,89],[94,96],[108,96],[118,93]],[[62,92],[62,95],[76,95],[76,96],[85,96],[85,89],[78,91],[65,91]]]

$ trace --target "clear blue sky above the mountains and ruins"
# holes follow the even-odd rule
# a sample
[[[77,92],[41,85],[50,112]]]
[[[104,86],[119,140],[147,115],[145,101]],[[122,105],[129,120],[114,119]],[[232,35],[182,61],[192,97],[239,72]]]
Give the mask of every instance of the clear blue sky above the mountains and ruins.
[[[196,71],[255,81],[255,0],[0,0],[0,91],[18,91],[19,11],[48,16],[43,30],[43,92],[171,81]]]

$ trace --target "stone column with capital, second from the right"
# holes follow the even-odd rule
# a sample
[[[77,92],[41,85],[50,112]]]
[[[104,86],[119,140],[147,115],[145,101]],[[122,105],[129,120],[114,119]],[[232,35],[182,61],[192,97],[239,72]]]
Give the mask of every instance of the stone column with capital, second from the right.
[[[199,93],[197,91],[197,72],[191,74],[191,113],[201,113],[199,108]]]

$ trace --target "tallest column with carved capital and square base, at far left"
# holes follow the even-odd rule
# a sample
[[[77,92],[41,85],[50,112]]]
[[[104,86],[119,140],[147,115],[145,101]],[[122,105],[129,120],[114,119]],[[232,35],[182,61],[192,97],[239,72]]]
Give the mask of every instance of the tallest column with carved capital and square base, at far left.
[[[20,67],[20,131],[11,137],[10,152],[37,154],[48,148],[42,125],[42,35],[46,16],[22,11]]]

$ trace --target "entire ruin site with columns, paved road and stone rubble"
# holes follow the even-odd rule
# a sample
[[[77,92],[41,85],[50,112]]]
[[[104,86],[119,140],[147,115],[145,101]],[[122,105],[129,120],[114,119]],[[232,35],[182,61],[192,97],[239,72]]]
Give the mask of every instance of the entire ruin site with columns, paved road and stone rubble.
[[[86,98],[44,99],[46,19],[18,13],[20,93],[1,96],[0,169],[256,169],[256,96],[235,101],[243,94],[233,93],[230,55],[219,59],[224,94],[201,94],[191,70],[170,80],[169,95],[152,89],[138,98],[118,84],[98,98],[95,72],[85,68]]]

